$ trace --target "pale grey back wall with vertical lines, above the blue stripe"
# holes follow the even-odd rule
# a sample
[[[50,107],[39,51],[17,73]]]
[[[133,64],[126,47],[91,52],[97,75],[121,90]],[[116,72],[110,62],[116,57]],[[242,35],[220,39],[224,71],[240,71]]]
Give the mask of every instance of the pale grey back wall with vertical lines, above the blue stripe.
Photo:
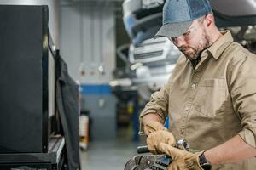
[[[84,84],[108,84],[115,68],[113,3],[62,3],[60,23],[61,56],[71,76]]]

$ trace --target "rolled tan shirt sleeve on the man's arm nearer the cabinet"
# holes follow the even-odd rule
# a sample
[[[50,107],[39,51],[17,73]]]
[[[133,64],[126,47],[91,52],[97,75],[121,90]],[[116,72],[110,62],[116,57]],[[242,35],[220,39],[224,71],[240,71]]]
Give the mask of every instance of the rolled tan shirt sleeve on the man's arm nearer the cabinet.
[[[150,100],[140,114],[140,131],[139,134],[143,135],[143,116],[154,113],[160,116],[162,122],[165,122],[166,116],[168,115],[168,102],[169,102],[169,89],[171,86],[171,77],[168,82],[160,89],[160,91],[151,94]]]

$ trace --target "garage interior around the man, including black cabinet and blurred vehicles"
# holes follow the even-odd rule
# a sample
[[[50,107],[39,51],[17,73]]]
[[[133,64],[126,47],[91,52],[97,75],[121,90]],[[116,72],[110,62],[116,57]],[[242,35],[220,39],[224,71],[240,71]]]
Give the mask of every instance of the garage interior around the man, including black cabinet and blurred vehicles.
[[[152,38],[165,1],[0,0],[0,169],[125,168],[146,145],[139,114],[181,54]],[[255,1],[210,2],[256,54]]]

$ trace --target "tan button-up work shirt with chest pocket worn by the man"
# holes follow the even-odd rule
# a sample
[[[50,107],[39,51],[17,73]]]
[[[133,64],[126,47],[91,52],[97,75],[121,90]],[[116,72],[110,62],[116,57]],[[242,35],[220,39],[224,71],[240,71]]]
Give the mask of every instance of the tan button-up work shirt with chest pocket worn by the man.
[[[169,130],[195,150],[208,150],[239,134],[256,147],[256,56],[233,42],[230,31],[201,54],[193,69],[180,56],[172,76],[141,113],[169,116]],[[141,132],[143,124],[141,122]],[[256,169],[256,159],[213,169]]]

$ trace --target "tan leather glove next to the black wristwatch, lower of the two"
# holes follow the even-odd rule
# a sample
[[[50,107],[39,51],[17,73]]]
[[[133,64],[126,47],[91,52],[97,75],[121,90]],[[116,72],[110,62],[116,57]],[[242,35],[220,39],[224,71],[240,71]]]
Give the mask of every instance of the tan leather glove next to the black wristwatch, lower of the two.
[[[199,163],[199,156],[204,151],[192,154],[186,150],[180,150],[164,143],[160,143],[157,149],[172,157],[172,163],[167,167],[167,170],[203,170]]]

